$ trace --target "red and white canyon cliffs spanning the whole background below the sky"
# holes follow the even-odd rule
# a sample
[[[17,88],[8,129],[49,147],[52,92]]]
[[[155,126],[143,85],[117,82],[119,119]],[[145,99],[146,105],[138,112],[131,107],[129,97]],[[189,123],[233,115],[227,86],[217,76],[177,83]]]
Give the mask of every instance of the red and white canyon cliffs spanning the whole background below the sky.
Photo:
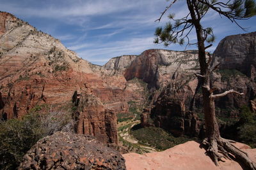
[[[220,120],[237,119],[242,106],[255,113],[255,39],[256,32],[228,36],[212,54],[214,64],[220,63],[212,74],[216,93],[227,89],[244,93],[216,100]],[[203,138],[197,57],[196,50],[150,49],[97,66],[60,40],[0,12],[0,118],[22,118],[42,104],[71,104],[77,133],[118,146],[116,115],[128,113],[132,102],[143,110],[142,127]],[[220,121],[220,127],[225,129],[225,122]]]

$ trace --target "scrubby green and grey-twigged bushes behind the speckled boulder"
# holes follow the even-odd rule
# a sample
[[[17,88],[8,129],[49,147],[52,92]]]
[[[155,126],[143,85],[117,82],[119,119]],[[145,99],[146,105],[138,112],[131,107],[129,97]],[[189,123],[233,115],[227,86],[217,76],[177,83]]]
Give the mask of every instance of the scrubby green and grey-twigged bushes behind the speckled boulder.
[[[74,124],[69,110],[50,107],[43,111],[42,106],[35,106],[21,119],[1,121],[0,169],[17,169],[24,154],[40,138],[56,131],[74,132]]]

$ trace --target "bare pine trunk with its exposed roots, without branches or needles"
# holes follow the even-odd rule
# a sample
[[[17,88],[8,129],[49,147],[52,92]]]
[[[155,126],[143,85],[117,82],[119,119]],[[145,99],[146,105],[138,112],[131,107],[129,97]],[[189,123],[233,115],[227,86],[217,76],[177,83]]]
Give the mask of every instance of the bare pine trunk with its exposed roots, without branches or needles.
[[[198,6],[196,6],[196,0],[187,0],[188,9],[190,11],[191,20],[196,29],[196,37],[198,40],[198,60],[200,63],[200,76],[202,78],[202,92],[204,99],[204,117],[205,117],[205,139],[203,144],[207,147],[207,152],[210,153],[216,166],[218,166],[218,160],[221,158],[230,159],[230,153],[241,162],[244,169],[256,169],[256,165],[250,160],[247,153],[239,150],[236,146],[232,145],[230,140],[223,139],[220,136],[220,129],[216,121],[215,104],[213,90],[211,89],[210,75],[211,67],[206,60],[205,45],[203,37],[203,29],[200,24],[200,15],[196,15],[198,12]],[[230,91],[234,92],[234,91]]]

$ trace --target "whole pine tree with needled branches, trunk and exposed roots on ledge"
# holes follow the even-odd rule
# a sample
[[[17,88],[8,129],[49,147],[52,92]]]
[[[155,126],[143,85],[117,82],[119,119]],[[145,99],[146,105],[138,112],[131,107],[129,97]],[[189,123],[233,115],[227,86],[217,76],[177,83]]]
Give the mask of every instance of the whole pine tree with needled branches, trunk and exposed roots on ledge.
[[[179,0],[172,0],[169,6],[161,13],[161,16],[156,21],[160,21],[164,13],[168,11],[173,4]],[[165,46],[171,43],[179,43],[183,45],[197,45],[198,46],[198,61],[200,63],[200,74],[196,74],[202,81],[202,92],[204,99],[204,117],[206,136],[203,145],[207,147],[207,152],[210,153],[214,163],[218,165],[218,160],[222,157],[230,159],[229,153],[234,155],[236,159],[243,164],[246,169],[256,169],[255,164],[250,160],[247,153],[239,150],[232,145],[234,141],[223,139],[220,136],[218,124],[215,116],[214,99],[226,96],[227,94],[239,94],[235,90],[228,90],[221,94],[214,94],[214,88],[211,86],[210,76],[218,66],[212,66],[212,57],[205,50],[209,48],[211,42],[214,41],[214,34],[211,27],[204,28],[201,24],[202,18],[207,12],[214,11],[221,17],[226,17],[231,22],[241,27],[237,20],[245,20],[256,15],[256,3],[253,0],[186,0],[188,13],[185,17],[175,19],[171,14],[168,17],[172,22],[168,22],[164,28],[157,27],[155,35],[155,43],[164,43]],[[174,24],[173,24],[174,22]],[[189,34],[195,29],[197,42],[191,43],[189,41]],[[241,29],[244,30],[243,27]],[[209,45],[205,45],[209,43]],[[207,57],[209,54],[209,57]]]

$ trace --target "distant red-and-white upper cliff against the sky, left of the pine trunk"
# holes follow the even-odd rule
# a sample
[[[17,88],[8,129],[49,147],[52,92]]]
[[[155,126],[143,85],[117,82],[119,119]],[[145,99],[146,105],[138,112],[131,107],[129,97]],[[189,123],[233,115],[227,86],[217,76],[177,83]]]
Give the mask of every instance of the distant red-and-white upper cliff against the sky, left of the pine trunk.
[[[190,74],[197,66],[196,51],[175,52],[170,50],[146,50],[127,67],[126,80],[139,78],[148,83],[148,88],[159,89],[168,80],[178,78],[180,74]]]

